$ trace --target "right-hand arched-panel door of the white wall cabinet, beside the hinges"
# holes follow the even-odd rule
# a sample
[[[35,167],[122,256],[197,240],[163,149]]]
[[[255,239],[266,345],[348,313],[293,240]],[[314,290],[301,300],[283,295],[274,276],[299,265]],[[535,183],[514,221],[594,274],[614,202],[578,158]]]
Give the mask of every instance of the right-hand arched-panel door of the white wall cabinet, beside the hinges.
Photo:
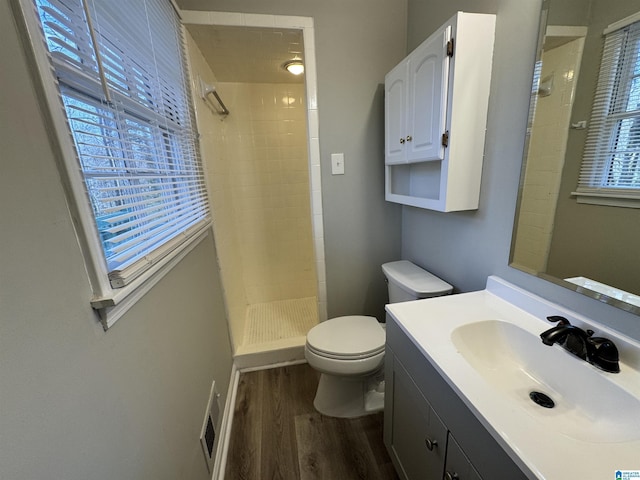
[[[407,161],[443,160],[449,85],[447,42],[451,26],[421,44],[409,56]]]

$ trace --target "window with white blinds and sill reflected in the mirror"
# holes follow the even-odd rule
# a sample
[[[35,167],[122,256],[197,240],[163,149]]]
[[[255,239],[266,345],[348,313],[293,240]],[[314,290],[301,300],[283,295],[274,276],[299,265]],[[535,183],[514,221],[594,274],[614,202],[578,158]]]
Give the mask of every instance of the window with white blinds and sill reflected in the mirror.
[[[640,18],[621,23],[605,31],[575,193],[580,202],[640,207]]]

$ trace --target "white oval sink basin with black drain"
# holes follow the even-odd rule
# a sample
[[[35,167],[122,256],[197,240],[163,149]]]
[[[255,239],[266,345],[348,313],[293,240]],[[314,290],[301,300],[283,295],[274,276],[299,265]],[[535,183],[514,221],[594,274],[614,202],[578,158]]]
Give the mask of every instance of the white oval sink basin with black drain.
[[[640,439],[640,400],[611,381],[615,374],[502,320],[463,324],[451,332],[451,341],[482,380],[545,431],[592,443]],[[531,392],[545,394],[555,406],[535,403]]]

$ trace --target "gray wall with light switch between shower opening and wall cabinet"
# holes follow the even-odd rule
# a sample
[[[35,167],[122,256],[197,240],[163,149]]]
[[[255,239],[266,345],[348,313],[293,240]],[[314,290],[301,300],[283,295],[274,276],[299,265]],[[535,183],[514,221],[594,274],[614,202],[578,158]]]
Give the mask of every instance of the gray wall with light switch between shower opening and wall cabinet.
[[[380,270],[400,256],[400,207],[384,201],[384,75],[405,55],[406,0],[180,0],[185,10],[314,18],[329,317],[383,318]],[[331,175],[344,152],[345,175]]]

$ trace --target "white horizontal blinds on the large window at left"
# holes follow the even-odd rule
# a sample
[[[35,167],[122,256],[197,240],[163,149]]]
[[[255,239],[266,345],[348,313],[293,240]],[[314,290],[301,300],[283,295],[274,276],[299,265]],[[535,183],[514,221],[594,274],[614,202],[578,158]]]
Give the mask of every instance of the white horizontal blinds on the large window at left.
[[[168,0],[36,0],[113,288],[208,222]]]

